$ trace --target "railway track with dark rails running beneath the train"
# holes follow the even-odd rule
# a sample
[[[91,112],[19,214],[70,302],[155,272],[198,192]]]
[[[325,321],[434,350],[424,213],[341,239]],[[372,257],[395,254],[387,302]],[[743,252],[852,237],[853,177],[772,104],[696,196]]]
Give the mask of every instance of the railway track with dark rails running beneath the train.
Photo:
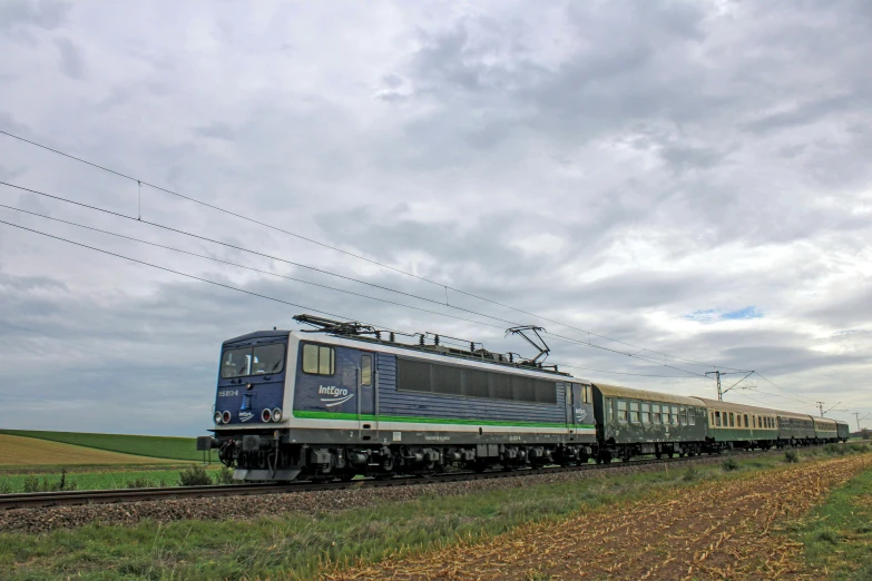
[[[819,446],[812,446],[819,447]],[[811,447],[810,447],[811,449]],[[805,450],[810,450],[805,449]],[[778,451],[781,452],[781,451]],[[630,462],[611,462],[610,464],[582,464],[580,466],[547,466],[539,469],[522,469],[513,471],[492,472],[450,472],[431,476],[394,476],[388,480],[363,479],[351,482],[292,482],[284,484],[226,484],[208,486],[166,486],[149,489],[115,489],[115,490],[82,490],[62,492],[28,492],[17,494],[0,494],[0,510],[38,509],[50,506],[74,506],[78,504],[107,504],[118,502],[140,502],[176,499],[203,499],[215,496],[251,496],[261,494],[288,494],[295,492],[349,490],[364,488],[385,486],[418,486],[439,484],[444,482],[462,482],[481,479],[504,479],[516,476],[529,476],[535,474],[553,474],[559,472],[582,472],[594,470],[609,470],[621,466],[641,466],[650,464],[674,464],[693,462],[707,459],[719,459],[732,455],[755,455],[773,453],[765,451],[732,451],[723,454],[709,454],[704,456],[687,456],[672,459],[639,459]]]

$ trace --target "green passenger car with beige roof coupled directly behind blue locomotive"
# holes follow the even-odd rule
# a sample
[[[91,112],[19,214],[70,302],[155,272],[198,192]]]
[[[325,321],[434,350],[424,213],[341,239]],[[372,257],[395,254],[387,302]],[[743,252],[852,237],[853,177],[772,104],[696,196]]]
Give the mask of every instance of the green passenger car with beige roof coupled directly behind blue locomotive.
[[[598,462],[654,454],[698,454],[705,446],[706,407],[696,397],[594,386]]]

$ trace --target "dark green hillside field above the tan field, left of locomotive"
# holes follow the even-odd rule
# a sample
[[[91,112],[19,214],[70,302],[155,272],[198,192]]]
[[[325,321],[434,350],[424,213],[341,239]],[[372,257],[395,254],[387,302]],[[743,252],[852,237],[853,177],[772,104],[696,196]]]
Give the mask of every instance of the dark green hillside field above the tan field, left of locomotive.
[[[197,452],[197,441],[194,437],[41,432],[36,430],[0,430],[0,434],[36,437],[138,456],[169,460],[203,460],[203,452]]]

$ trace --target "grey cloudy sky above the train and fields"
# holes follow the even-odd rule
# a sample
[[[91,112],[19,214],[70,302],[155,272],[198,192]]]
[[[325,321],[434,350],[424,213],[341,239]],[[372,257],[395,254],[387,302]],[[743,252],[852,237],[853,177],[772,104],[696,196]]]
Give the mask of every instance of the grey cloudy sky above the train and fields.
[[[579,377],[714,397],[711,365],[757,370],[726,397],[872,413],[871,27],[864,0],[3,0],[0,130],[227,211],[0,204],[405,306],[0,207],[306,307],[0,224],[0,426],[202,434],[222,341],[307,309],[521,353],[504,322],[539,324]],[[4,135],[0,180],[140,211]]]

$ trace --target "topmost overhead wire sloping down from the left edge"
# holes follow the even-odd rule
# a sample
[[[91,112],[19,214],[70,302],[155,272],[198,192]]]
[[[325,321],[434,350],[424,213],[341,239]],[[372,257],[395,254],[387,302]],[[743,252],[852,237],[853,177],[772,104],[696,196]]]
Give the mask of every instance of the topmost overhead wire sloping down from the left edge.
[[[672,360],[676,360],[676,361],[678,361],[678,362],[684,362],[684,363],[686,363],[686,364],[688,364],[688,365],[697,365],[697,366],[703,366],[703,367],[719,367],[719,368],[724,368],[724,370],[733,370],[733,371],[743,371],[743,370],[737,370],[737,368],[735,368],[735,367],[725,367],[725,366],[722,366],[722,365],[713,365],[713,364],[711,364],[711,363],[703,363],[703,362],[697,362],[697,361],[694,361],[694,360],[688,360],[688,358],[685,358],[685,357],[678,357],[678,356],[676,356],[676,355],[670,355],[670,354],[668,354],[668,353],[663,353],[663,352],[659,352],[659,351],[648,349],[648,348],[646,348],[646,347],[641,347],[640,345],[636,345],[636,344],[628,343],[628,342],[625,342],[625,341],[620,341],[620,339],[611,338],[611,337],[608,337],[608,336],[606,336],[606,335],[600,335],[600,334],[598,334],[598,333],[594,333],[594,332],[591,332],[591,331],[587,331],[587,329],[584,329],[584,328],[580,328],[580,327],[576,327],[576,326],[574,326],[574,325],[568,325],[568,324],[566,324],[566,323],[562,323],[562,322],[560,322],[560,321],[556,321],[556,319],[552,319],[552,318],[548,318],[548,317],[545,317],[545,316],[542,316],[542,315],[538,315],[538,314],[536,314],[536,313],[530,313],[530,312],[528,312],[528,311],[523,311],[523,309],[520,309],[520,308],[513,307],[513,306],[511,306],[511,305],[507,305],[507,304],[500,303],[500,302],[498,302],[498,301],[492,301],[492,299],[490,299],[490,298],[487,298],[487,297],[483,297],[483,296],[477,295],[477,294],[474,294],[474,293],[470,293],[470,292],[463,290],[463,289],[461,289],[461,288],[457,288],[457,287],[453,287],[453,286],[444,285],[444,284],[442,284],[442,283],[439,283],[439,282],[432,280],[432,279],[430,279],[430,278],[427,278],[427,277],[423,277],[423,276],[415,275],[415,274],[413,274],[413,273],[410,273],[410,272],[408,272],[408,270],[403,270],[402,268],[396,268],[396,267],[394,267],[394,266],[386,265],[386,264],[384,264],[384,263],[381,263],[381,262],[379,262],[379,260],[374,260],[374,259],[372,259],[372,258],[366,258],[365,256],[361,256],[361,255],[359,255],[359,254],[354,254],[354,253],[351,253],[351,252],[349,252],[349,250],[343,250],[342,248],[339,248],[339,247],[336,247],[336,246],[332,246],[332,245],[329,245],[329,244],[326,244],[326,243],[322,243],[322,242],[320,242],[320,240],[315,240],[314,238],[310,238],[310,237],[303,236],[303,235],[301,235],[301,234],[296,234],[296,233],[294,233],[294,232],[286,230],[286,229],[284,229],[284,228],[280,228],[278,226],[274,226],[274,225],[272,225],[272,224],[267,224],[267,223],[265,223],[265,221],[257,220],[257,219],[255,219],[255,218],[251,218],[251,217],[248,217],[248,216],[245,216],[245,215],[242,215],[242,214],[239,214],[239,213],[237,213],[237,211],[232,211],[232,210],[228,210],[228,209],[222,208],[222,207],[219,207],[219,206],[216,206],[216,205],[214,205],[214,204],[208,204],[208,203],[206,203],[206,201],[203,201],[203,200],[200,200],[200,199],[197,199],[197,198],[194,198],[194,197],[190,197],[190,196],[186,196],[186,195],[184,195],[184,194],[179,194],[178,191],[174,191],[174,190],[172,190],[172,189],[167,189],[167,188],[164,188],[164,187],[161,187],[161,186],[157,186],[157,185],[155,185],[155,184],[151,184],[151,183],[149,183],[149,181],[146,181],[146,180],[144,180],[144,179],[135,178],[135,177],[133,177],[133,176],[130,176],[130,175],[127,175],[127,174],[124,174],[124,173],[121,173],[121,171],[118,171],[118,170],[115,170],[115,169],[110,169],[110,168],[108,168],[108,167],[106,167],[106,166],[101,166],[101,165],[99,165],[99,164],[95,164],[94,161],[89,161],[89,160],[87,160],[87,159],[82,159],[82,158],[80,158],[80,157],[76,157],[76,156],[74,156],[74,155],[67,154],[67,152],[65,152],[65,151],[61,151],[61,150],[59,150],[59,149],[55,149],[55,148],[52,148],[52,147],[49,147],[49,146],[46,146],[46,145],[39,144],[39,142],[37,142],[37,141],[32,141],[32,140],[30,140],[30,139],[27,139],[27,138],[25,138],[25,137],[21,137],[21,136],[18,136],[18,135],[11,134],[11,132],[9,132],[9,131],[4,131],[4,130],[0,129],[0,134],[2,134],[2,135],[6,135],[6,136],[8,136],[8,137],[11,137],[11,138],[13,138],[13,139],[18,139],[19,141],[23,141],[23,142],[26,142],[26,144],[32,145],[32,146],[35,146],[35,147],[39,147],[39,148],[41,148],[41,149],[45,149],[45,150],[47,150],[47,151],[51,151],[51,152],[53,152],[53,154],[56,154],[56,155],[59,155],[59,156],[62,156],[62,157],[67,157],[67,158],[69,158],[69,159],[72,159],[72,160],[75,160],[75,161],[79,161],[79,163],[81,163],[81,164],[86,164],[86,165],[88,165],[88,166],[91,166],[91,167],[95,167],[95,168],[97,168],[97,169],[101,169],[101,170],[104,170],[104,171],[108,171],[108,173],[110,173],[110,174],[114,174],[114,175],[116,175],[116,176],[123,177],[123,178],[125,178],[125,179],[129,179],[129,180],[131,180],[131,181],[136,181],[136,183],[137,183],[137,187],[139,187],[139,188],[141,188],[141,186],[143,186],[143,185],[145,185],[145,186],[148,186],[148,187],[150,187],[150,188],[154,188],[154,189],[156,189],[156,190],[163,191],[163,193],[165,193],[165,194],[169,194],[169,195],[172,195],[172,196],[179,197],[179,198],[182,198],[182,199],[185,199],[185,200],[192,201],[192,203],[194,203],[194,204],[198,204],[198,205],[200,205],[200,206],[204,206],[204,207],[207,207],[207,208],[214,209],[214,210],[216,210],[216,211],[221,211],[221,213],[223,213],[223,214],[226,214],[226,215],[233,216],[233,217],[235,217],[235,218],[239,218],[239,219],[242,219],[242,220],[245,220],[245,221],[248,221],[248,223],[252,223],[252,224],[256,224],[256,225],[258,225],[258,226],[263,226],[263,227],[265,227],[265,228],[270,228],[270,229],[273,229],[273,230],[276,230],[276,232],[281,232],[281,233],[283,233],[283,234],[286,234],[286,235],[288,235],[288,236],[293,236],[293,237],[295,237],[295,238],[298,238],[298,239],[302,239],[302,240],[306,240],[306,242],[308,242],[308,243],[312,243],[312,244],[316,244],[316,245],[319,245],[319,246],[322,246],[322,247],[324,247],[324,248],[329,248],[329,249],[331,249],[331,250],[335,250],[335,252],[337,252],[337,253],[341,253],[341,254],[344,254],[344,255],[346,255],[346,256],[351,256],[351,257],[353,257],[353,258],[357,258],[357,259],[360,259],[360,260],[364,260],[364,262],[368,262],[368,263],[370,263],[370,264],[378,265],[378,266],[380,266],[380,267],[382,267],[382,268],[388,268],[388,269],[390,269],[390,270],[393,270],[393,272],[395,272],[395,273],[400,273],[400,274],[403,274],[403,275],[406,275],[406,276],[411,276],[411,277],[413,277],[413,278],[417,278],[417,279],[419,279],[419,280],[423,280],[423,282],[430,283],[430,284],[432,284],[432,285],[440,286],[440,287],[442,287],[442,288],[444,288],[444,289],[445,289],[445,293],[448,293],[448,290],[450,289],[450,290],[453,290],[453,292],[455,292],[455,293],[459,293],[459,294],[462,294],[462,295],[466,295],[466,296],[469,296],[469,297],[472,297],[472,298],[477,298],[477,299],[479,299],[479,301],[484,301],[484,302],[487,302],[487,303],[490,303],[490,304],[493,304],[493,305],[497,305],[497,306],[500,306],[500,307],[503,307],[503,308],[508,308],[508,309],[511,309],[511,311],[516,311],[516,312],[518,312],[518,313],[522,313],[522,314],[525,314],[525,315],[533,316],[533,317],[540,318],[540,319],[542,319],[542,321],[547,321],[547,322],[549,322],[549,323],[553,323],[553,324],[556,324],[556,325],[560,325],[560,326],[564,326],[564,327],[567,327],[567,328],[571,328],[571,329],[574,329],[574,331],[578,331],[578,332],[580,332],[580,333],[586,333],[586,334],[588,334],[588,335],[591,335],[591,336],[595,336],[595,337],[598,337],[598,338],[602,338],[602,339],[610,341],[610,342],[614,342],[614,343],[618,343],[618,344],[621,344],[621,345],[626,345],[626,346],[629,346],[629,347],[634,347],[634,348],[643,349],[643,351],[640,351],[639,353],[643,353],[643,352],[648,352],[648,353],[653,353],[653,354],[656,354],[656,355],[662,355],[663,357],[668,357],[668,358],[672,358]],[[141,213],[140,213],[140,214],[141,214]],[[141,216],[140,216],[140,217],[141,217]],[[445,296],[445,298],[448,298],[448,295]],[[448,302],[448,301],[447,301],[447,302]],[[591,346],[592,346],[592,344],[591,344],[591,343],[589,343],[589,342],[587,343],[587,345],[591,345]],[[650,360],[645,360],[645,361],[650,361]],[[673,368],[675,368],[675,367],[673,367]],[[744,370],[744,371],[747,371],[747,370]]]

